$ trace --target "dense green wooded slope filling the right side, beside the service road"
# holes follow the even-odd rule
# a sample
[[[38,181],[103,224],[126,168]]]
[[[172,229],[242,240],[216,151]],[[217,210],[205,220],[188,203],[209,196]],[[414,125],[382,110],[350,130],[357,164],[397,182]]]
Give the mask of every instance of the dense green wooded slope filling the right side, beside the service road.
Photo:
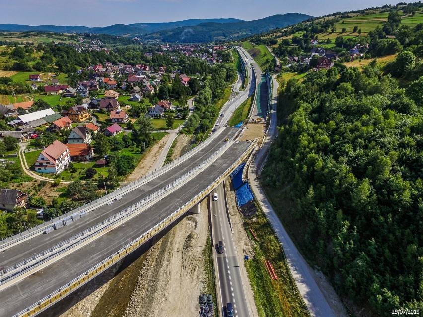
[[[422,26],[383,69],[290,79],[264,169],[302,253],[365,316],[423,308]]]

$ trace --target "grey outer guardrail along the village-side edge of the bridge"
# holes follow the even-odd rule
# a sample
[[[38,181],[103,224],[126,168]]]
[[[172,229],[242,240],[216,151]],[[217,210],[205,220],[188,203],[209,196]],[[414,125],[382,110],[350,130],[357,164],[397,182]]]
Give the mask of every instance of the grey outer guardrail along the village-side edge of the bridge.
[[[224,128],[224,127],[217,127],[216,131],[219,130],[219,128]],[[191,155],[194,155],[195,153],[197,153],[198,151],[200,151],[205,145],[209,144],[211,142],[211,139],[207,139],[204,142],[200,143],[199,145],[197,145],[194,149],[192,149],[191,151],[185,153],[184,155],[180,156],[179,158],[177,158],[176,160],[162,166],[161,168],[158,168],[152,172],[149,172],[148,174],[142,176],[141,178],[139,178],[138,180],[135,180],[134,182],[130,182],[129,184],[125,185],[124,187],[118,188],[116,190],[114,190],[113,192],[102,196],[96,200],[90,201],[87,204],[84,204],[74,210],[71,210],[70,212],[65,212],[65,214],[56,217],[54,219],[51,219],[50,221],[46,221],[44,224],[42,225],[36,225],[33,228],[30,228],[26,231],[20,232],[14,236],[10,236],[10,238],[6,238],[6,239],[1,239],[1,244],[0,244],[0,249],[4,248],[4,247],[8,247],[16,242],[19,242],[23,239],[27,239],[28,237],[32,236],[32,235],[36,235],[39,234],[41,232],[44,232],[46,229],[48,229],[49,227],[52,226],[52,224],[58,222],[58,221],[62,221],[63,219],[69,217],[70,214],[77,214],[77,213],[83,213],[83,212],[87,212],[89,210],[92,210],[100,205],[102,205],[103,203],[105,203],[106,201],[109,201],[111,199],[114,199],[114,197],[118,196],[118,195],[122,195],[130,190],[134,190],[135,188],[141,186],[143,183],[145,183],[146,181],[151,180],[152,178],[163,174],[164,172],[166,172],[167,170],[173,168],[174,166],[178,165],[179,163],[185,161],[188,157],[190,157]]]

